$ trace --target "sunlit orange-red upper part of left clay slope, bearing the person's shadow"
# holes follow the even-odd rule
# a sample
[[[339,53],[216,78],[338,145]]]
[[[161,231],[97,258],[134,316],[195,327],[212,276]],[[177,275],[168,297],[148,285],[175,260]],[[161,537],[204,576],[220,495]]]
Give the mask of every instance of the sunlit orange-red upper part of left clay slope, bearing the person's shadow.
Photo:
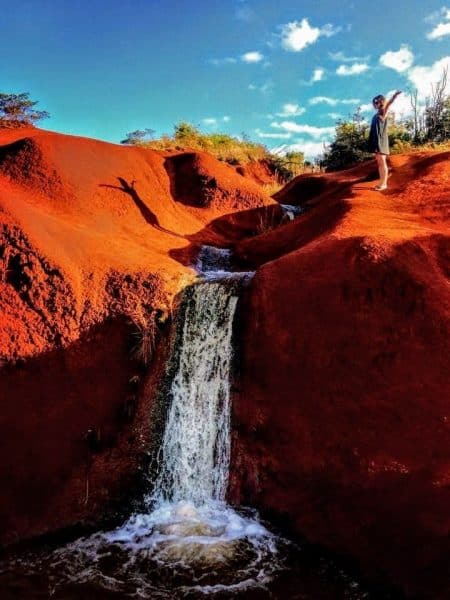
[[[215,217],[272,202],[207,154],[168,155],[36,129],[0,130],[0,143],[4,358],[67,344],[120,312],[125,275],[156,278],[162,295],[173,294],[192,271],[172,254],[191,236]]]

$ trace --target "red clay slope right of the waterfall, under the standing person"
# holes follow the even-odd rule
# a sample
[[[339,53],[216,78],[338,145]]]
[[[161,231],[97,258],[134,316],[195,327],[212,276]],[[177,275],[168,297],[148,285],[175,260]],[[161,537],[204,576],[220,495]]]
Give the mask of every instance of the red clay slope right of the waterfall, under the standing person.
[[[392,166],[385,193],[371,165],[316,197],[298,178],[283,201],[314,207],[236,246],[266,264],[243,309],[232,497],[435,599],[450,592],[450,153]]]

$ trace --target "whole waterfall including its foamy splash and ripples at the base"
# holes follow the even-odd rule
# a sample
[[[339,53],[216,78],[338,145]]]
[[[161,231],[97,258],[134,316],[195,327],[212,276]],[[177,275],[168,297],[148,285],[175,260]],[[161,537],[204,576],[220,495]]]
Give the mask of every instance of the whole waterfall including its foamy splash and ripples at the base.
[[[205,262],[210,264],[208,257]],[[161,385],[167,407],[147,510],[44,559],[58,586],[172,600],[268,583],[284,543],[251,509],[226,504],[231,447],[233,321],[248,273],[208,271],[181,296]],[[168,577],[170,574],[170,577]],[[191,596],[189,596],[191,597]]]

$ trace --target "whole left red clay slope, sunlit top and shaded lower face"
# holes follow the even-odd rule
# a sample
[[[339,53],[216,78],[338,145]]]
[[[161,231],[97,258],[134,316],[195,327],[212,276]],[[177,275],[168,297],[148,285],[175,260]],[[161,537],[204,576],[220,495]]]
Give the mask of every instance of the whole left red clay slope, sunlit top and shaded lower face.
[[[226,243],[212,220],[274,202],[207,154],[38,129],[0,144],[0,538],[14,541],[130,487],[150,402],[132,349],[193,277],[176,257]]]

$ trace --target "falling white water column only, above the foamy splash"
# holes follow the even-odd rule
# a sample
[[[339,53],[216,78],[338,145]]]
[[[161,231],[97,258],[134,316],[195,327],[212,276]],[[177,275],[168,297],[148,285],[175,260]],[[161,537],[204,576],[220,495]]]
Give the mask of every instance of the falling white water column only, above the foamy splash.
[[[230,463],[230,370],[235,281],[185,290],[178,366],[152,500],[224,500]]]

